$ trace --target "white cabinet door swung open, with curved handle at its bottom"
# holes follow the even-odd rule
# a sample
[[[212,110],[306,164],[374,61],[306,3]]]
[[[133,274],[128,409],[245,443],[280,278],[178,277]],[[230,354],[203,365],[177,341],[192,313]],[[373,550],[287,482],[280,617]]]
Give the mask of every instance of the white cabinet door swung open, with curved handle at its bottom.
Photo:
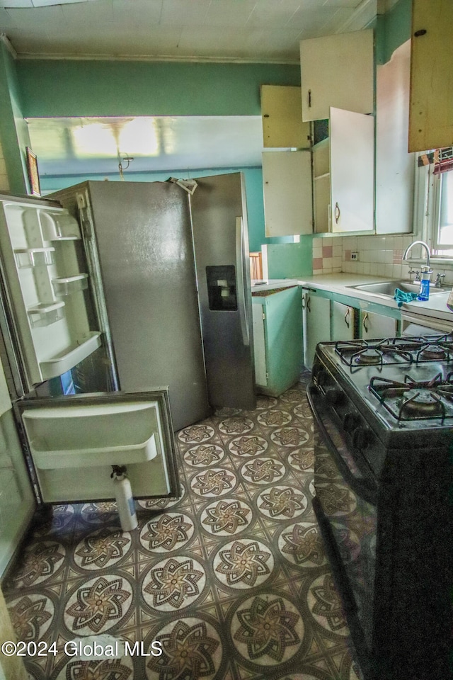
[[[374,118],[331,108],[332,232],[374,228]]]

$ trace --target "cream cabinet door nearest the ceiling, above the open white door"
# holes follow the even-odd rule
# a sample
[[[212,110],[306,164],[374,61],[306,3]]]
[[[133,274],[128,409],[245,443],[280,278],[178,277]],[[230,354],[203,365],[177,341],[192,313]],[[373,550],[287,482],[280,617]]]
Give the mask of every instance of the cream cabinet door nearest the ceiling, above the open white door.
[[[328,118],[329,108],[374,111],[373,31],[326,35],[300,43],[302,120]]]

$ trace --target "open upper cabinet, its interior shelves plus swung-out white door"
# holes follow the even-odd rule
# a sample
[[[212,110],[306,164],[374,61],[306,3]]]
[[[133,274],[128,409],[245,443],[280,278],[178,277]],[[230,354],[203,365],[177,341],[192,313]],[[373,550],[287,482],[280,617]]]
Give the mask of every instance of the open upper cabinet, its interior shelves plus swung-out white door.
[[[329,137],[313,147],[316,233],[374,229],[374,118],[331,108]]]

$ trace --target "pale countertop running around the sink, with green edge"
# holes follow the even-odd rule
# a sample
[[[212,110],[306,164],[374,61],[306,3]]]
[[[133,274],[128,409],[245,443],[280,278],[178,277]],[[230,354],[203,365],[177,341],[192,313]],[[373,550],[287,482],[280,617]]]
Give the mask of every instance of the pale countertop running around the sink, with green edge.
[[[393,300],[391,297],[365,292],[365,290],[357,290],[357,288],[349,288],[349,286],[352,285],[377,283],[379,281],[388,280],[389,278],[382,278],[379,276],[367,276],[365,274],[350,274],[344,272],[317,274],[316,276],[306,276],[303,279],[271,279],[268,280],[267,283],[252,285],[252,293],[254,290],[271,290],[272,288],[283,288],[287,285],[297,284],[306,285],[318,290],[328,290],[331,293],[338,293],[339,295],[348,295],[348,297],[355,297],[357,300],[372,302],[375,305],[398,309],[396,300]],[[449,291],[446,293],[435,293],[434,295],[430,295],[430,299],[426,302],[420,302],[419,300],[403,302],[403,305],[399,307],[399,310],[401,312],[420,314],[424,317],[431,317],[433,319],[442,319],[451,322],[453,326],[453,312],[447,307],[448,296]]]

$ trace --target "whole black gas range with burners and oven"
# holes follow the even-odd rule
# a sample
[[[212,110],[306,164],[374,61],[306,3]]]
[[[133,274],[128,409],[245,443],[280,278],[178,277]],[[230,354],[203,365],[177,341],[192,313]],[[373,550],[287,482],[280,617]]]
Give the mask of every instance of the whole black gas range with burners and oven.
[[[453,336],[321,343],[314,509],[365,678],[453,678]]]

